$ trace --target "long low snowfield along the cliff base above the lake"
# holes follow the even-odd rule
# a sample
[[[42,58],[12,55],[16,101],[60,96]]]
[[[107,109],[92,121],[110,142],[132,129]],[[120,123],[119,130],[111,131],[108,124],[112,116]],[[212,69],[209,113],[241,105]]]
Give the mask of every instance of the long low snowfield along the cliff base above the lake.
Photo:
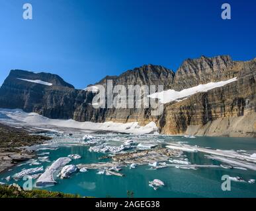
[[[33,127],[42,127],[43,125],[52,125],[54,127],[75,128],[81,130],[110,131],[118,133],[132,133],[136,135],[143,135],[149,133],[157,133],[157,126],[152,121],[148,125],[141,126],[138,122],[131,123],[114,123],[107,121],[105,123],[93,123],[89,121],[79,122],[73,119],[49,119],[39,115],[38,113],[26,113],[21,109],[1,109],[0,115],[5,118],[0,118],[0,122],[15,122],[22,125],[32,125]]]

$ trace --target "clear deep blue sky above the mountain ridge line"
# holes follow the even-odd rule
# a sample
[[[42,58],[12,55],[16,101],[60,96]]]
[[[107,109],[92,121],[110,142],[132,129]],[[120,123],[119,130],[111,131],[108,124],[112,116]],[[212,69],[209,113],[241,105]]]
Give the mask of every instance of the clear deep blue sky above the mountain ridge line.
[[[22,5],[32,3],[33,20]],[[222,20],[230,3],[232,20]],[[55,73],[85,88],[144,64],[256,57],[255,0],[0,0],[0,84],[11,69]]]

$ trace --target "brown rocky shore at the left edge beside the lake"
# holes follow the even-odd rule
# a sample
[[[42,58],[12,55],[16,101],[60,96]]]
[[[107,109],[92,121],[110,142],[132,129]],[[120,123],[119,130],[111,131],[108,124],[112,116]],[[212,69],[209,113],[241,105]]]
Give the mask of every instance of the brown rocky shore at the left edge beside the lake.
[[[0,173],[34,157],[28,146],[42,144],[50,137],[30,135],[22,128],[10,127],[0,123]]]

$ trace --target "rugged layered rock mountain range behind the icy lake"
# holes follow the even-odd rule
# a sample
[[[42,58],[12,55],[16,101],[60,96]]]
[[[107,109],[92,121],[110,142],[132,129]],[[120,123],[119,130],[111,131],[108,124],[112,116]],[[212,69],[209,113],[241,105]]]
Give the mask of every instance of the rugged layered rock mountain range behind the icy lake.
[[[187,59],[176,73],[158,65],[144,65],[119,76],[106,76],[97,84],[158,85],[181,91],[209,82],[237,80],[208,92],[192,94],[180,102],[164,104],[162,115],[148,109],[95,109],[96,93],[77,90],[60,76],[12,70],[0,88],[0,107],[36,112],[52,119],[93,122],[154,121],[163,134],[256,137],[256,59],[232,61],[227,56]],[[97,85],[95,84],[95,85]]]

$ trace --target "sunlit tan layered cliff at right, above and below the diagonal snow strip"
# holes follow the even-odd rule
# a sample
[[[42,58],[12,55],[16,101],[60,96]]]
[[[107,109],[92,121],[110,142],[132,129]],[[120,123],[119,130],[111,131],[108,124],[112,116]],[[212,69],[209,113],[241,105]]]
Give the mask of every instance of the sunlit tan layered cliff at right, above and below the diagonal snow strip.
[[[216,59],[224,59],[218,63]],[[174,86],[184,88],[209,82],[209,80],[226,80],[237,76],[237,81],[226,86],[194,94],[182,102],[167,104],[165,113],[159,121],[161,133],[208,136],[255,136],[256,128],[256,59],[247,62],[234,62],[229,57],[206,59],[204,57],[194,61],[185,61],[189,67],[194,65],[193,71],[187,69],[188,75],[195,75],[189,80],[186,69],[180,68],[175,75]],[[210,62],[208,62],[210,61]],[[214,62],[213,62],[214,61]],[[219,65],[212,65],[218,63]],[[220,66],[220,64],[222,64]],[[198,68],[196,68],[198,67]],[[202,68],[204,67],[204,68]],[[179,74],[181,72],[181,74]],[[197,74],[200,72],[200,76]],[[210,75],[212,72],[212,79]],[[178,76],[177,76],[178,75]],[[181,83],[189,80],[189,86]],[[196,76],[198,75],[198,76]],[[176,77],[177,76],[177,77]]]

